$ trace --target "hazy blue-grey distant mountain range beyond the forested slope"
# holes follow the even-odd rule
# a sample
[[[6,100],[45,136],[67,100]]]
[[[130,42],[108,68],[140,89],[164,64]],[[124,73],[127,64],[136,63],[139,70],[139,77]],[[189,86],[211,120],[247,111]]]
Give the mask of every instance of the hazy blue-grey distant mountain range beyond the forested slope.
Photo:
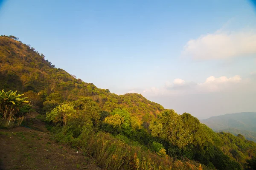
[[[242,112],[213,116],[200,120],[215,132],[239,133],[246,139],[256,142],[256,112]]]

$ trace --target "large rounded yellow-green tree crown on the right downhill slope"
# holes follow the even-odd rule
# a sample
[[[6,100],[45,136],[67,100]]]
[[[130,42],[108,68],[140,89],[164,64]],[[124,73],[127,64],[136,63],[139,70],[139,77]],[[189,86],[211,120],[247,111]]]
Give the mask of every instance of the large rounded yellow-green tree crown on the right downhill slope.
[[[157,119],[150,123],[152,136],[167,140],[180,148],[188,144],[203,145],[212,142],[204,133],[204,125],[189,113],[178,115],[174,110],[157,114]]]

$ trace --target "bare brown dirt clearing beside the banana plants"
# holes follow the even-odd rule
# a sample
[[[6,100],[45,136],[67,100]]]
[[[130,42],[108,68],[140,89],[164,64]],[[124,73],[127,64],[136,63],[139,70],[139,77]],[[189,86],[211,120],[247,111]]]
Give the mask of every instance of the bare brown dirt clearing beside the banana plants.
[[[37,115],[27,119],[30,128],[0,129],[0,170],[100,170],[78,150],[55,143]]]

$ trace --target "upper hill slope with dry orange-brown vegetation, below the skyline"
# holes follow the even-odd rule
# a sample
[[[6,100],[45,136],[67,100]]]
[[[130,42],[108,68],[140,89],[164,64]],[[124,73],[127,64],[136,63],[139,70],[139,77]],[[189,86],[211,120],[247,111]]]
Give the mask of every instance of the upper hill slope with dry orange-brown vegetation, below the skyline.
[[[16,39],[16,40],[15,40]],[[149,122],[163,106],[151,102],[140,94],[116,95],[108,89],[97,88],[93,83],[76,79],[61,68],[55,68],[29,45],[16,37],[0,37],[0,87],[6,90],[58,93],[63,100],[76,100],[81,96],[91,97],[105,111],[125,108]]]

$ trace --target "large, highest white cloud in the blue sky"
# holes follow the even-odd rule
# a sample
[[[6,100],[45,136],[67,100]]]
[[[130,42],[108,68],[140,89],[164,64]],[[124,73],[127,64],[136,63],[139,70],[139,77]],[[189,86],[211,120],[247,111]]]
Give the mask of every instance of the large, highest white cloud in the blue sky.
[[[192,59],[227,59],[256,54],[256,31],[216,31],[213,34],[201,35],[197,39],[189,40],[182,54]]]

